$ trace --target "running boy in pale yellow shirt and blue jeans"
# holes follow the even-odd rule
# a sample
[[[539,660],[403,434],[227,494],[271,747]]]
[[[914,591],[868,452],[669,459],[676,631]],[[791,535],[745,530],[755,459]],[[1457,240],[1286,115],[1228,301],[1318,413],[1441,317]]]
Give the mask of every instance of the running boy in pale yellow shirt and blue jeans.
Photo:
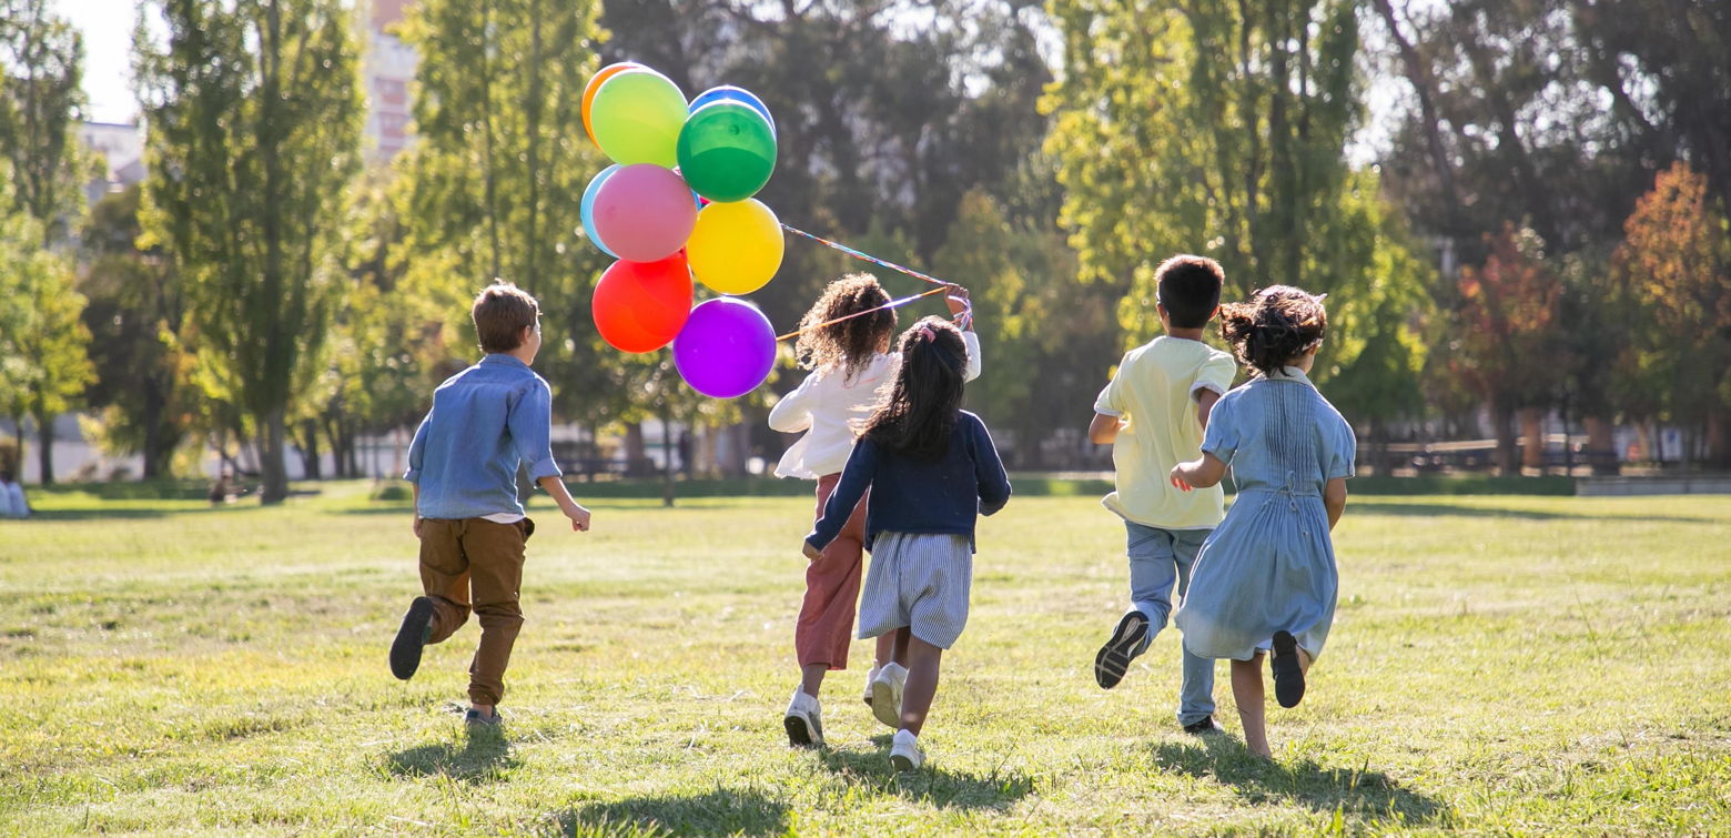
[[[1219,485],[1181,492],[1167,474],[1196,459],[1213,403],[1232,386],[1238,364],[1201,341],[1220,310],[1220,263],[1203,256],[1172,256],[1155,270],[1160,326],[1165,334],[1123,355],[1118,374],[1094,402],[1089,440],[1111,443],[1116,492],[1103,504],[1129,530],[1130,611],[1118,620],[1094,656],[1094,680],[1111,689],[1130,661],[1167,627],[1172,589],[1189,587],[1191,563],[1208,533],[1226,516]],[[1213,724],[1213,661],[1184,653],[1179,724],[1187,732],[1219,731]]]

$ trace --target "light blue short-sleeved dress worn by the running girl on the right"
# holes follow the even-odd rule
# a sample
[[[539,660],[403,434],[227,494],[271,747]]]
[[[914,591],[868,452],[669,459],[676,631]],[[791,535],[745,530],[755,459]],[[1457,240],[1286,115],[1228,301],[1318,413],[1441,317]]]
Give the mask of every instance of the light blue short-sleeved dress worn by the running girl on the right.
[[[1352,426],[1286,367],[1220,396],[1201,450],[1232,467],[1238,497],[1196,556],[1175,616],[1184,648],[1250,660],[1284,628],[1314,660],[1340,582],[1322,487],[1352,476]]]

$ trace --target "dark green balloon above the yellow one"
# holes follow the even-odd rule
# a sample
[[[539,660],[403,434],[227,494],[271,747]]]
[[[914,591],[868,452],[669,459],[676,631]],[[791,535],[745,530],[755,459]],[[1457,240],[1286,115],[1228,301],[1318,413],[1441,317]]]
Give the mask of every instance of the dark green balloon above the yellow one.
[[[774,170],[775,132],[744,102],[706,104],[679,132],[679,173],[710,201],[744,201],[769,184]]]

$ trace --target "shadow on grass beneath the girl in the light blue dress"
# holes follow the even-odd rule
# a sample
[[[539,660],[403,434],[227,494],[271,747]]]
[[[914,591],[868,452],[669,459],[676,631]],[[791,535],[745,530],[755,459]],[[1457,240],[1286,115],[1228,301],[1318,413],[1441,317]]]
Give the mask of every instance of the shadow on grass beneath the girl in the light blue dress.
[[[1250,803],[1291,802],[1317,812],[1395,817],[1404,824],[1444,824],[1454,810],[1432,796],[1400,788],[1380,770],[1324,769],[1312,760],[1267,762],[1227,736],[1201,745],[1155,746],[1155,764],[1232,786]]]

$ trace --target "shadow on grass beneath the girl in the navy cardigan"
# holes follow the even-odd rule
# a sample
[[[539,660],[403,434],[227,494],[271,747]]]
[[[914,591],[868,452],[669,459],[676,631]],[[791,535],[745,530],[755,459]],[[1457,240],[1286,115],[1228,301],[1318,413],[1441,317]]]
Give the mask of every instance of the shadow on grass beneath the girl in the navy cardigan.
[[[817,751],[826,769],[845,783],[885,796],[940,809],[1009,809],[1033,791],[1033,779],[1014,770],[969,774],[928,762],[924,769],[900,774],[890,767],[890,736],[876,736],[876,750]]]

